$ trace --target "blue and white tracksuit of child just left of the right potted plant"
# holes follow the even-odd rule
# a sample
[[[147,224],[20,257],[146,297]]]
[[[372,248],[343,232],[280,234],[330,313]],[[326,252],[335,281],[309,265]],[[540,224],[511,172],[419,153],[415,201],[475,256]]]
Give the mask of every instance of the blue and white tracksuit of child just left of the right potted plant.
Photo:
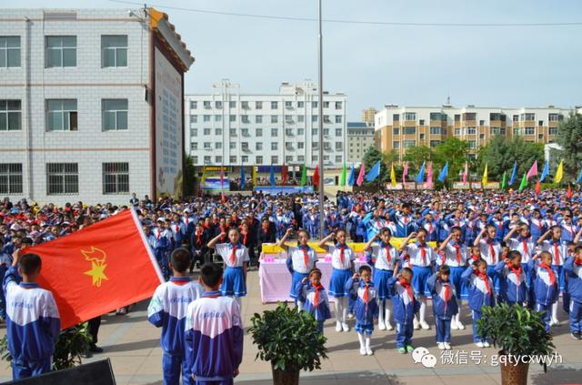
[[[495,306],[495,289],[493,279],[488,275],[484,277],[474,274],[473,268],[469,266],[462,276],[467,287],[469,309],[473,318],[473,341],[484,342],[484,339],[477,333],[477,321],[481,319],[481,308],[484,306]],[[488,288],[485,279],[487,279]]]

